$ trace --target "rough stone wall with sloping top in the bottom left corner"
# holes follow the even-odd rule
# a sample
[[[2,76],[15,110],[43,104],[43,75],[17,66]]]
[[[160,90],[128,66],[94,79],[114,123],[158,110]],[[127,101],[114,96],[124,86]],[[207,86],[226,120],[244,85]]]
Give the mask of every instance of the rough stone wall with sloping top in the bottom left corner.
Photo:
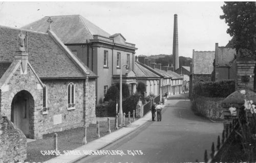
[[[27,138],[7,117],[0,117],[0,162],[24,162]]]

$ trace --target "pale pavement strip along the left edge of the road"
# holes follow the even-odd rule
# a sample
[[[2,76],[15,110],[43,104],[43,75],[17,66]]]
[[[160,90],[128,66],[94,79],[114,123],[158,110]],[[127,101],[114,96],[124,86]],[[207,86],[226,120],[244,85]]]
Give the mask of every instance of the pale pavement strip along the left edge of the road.
[[[162,105],[164,108],[164,105]],[[116,130],[114,132],[111,132],[108,135],[105,135],[103,137],[100,137],[96,139],[95,141],[89,142],[86,145],[83,145],[77,149],[74,149],[73,151],[96,151],[100,150],[114,142],[116,142],[118,139],[122,138],[123,136],[135,131],[136,129],[140,128],[144,124],[146,124],[148,121],[152,120],[152,114],[151,112],[148,112],[147,114],[144,115],[143,118],[140,118],[134,122],[132,122],[130,125],[127,127],[122,127],[119,130]],[[132,118],[131,118],[132,121]],[[76,155],[77,154],[77,155]],[[45,163],[71,163],[71,162],[76,162],[77,160],[80,160],[87,155],[84,155],[84,153],[73,153],[73,154],[62,154],[59,155],[55,158],[52,158],[50,160],[45,161]]]

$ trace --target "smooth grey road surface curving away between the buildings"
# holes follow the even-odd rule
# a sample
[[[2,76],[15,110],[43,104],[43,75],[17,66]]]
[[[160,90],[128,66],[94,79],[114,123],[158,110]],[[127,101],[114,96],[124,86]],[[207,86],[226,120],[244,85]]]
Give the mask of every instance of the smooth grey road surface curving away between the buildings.
[[[212,123],[191,111],[187,95],[168,98],[162,122],[147,122],[102,150],[122,150],[126,155],[89,156],[78,162],[203,162],[212,142],[217,142],[223,124]],[[141,150],[129,155],[127,150]]]

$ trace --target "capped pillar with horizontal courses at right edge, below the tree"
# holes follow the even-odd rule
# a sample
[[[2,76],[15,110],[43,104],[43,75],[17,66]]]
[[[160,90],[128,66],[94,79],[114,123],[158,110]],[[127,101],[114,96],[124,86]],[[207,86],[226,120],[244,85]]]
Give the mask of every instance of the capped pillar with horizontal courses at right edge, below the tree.
[[[250,89],[253,90],[254,85],[254,66],[255,62],[252,59],[238,60],[237,64],[237,77],[236,77],[236,90]]]

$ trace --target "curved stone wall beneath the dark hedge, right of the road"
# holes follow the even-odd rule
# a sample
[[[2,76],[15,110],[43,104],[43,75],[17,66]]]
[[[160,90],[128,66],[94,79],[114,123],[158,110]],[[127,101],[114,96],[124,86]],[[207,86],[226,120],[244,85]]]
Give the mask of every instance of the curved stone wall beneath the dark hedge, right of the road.
[[[208,98],[197,96],[193,99],[193,110],[210,120],[223,120],[221,102],[224,98]]]

